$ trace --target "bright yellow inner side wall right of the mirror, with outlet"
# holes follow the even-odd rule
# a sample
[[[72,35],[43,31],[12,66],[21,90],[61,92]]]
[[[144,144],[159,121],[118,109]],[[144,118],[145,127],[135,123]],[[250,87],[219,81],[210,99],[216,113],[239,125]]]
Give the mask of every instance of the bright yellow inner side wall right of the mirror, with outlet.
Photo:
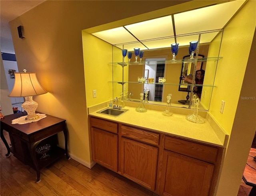
[[[252,4],[250,6],[250,4]],[[214,93],[210,113],[231,133],[239,100],[246,63],[255,31],[255,1],[248,1],[223,32]],[[246,22],[245,22],[246,21]],[[226,101],[224,113],[219,112],[221,100]]]

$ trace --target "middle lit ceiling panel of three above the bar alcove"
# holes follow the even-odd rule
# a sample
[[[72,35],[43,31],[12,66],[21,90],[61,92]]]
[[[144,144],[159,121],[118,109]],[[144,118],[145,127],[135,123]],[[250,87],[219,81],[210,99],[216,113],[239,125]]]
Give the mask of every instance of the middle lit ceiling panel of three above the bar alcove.
[[[124,27],[127,28],[140,41],[174,35],[172,16],[156,18]]]

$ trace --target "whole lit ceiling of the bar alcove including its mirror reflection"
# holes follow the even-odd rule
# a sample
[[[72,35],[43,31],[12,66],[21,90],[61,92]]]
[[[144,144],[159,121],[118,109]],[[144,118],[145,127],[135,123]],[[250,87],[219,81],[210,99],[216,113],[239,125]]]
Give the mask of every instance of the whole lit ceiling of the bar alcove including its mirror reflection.
[[[191,35],[192,33],[224,28],[245,1],[246,0],[234,0],[214,6],[174,14],[177,42],[180,46],[188,46],[189,42],[198,40],[198,35]],[[132,44],[126,44],[124,46],[128,51],[133,51],[133,48],[136,47],[141,49],[166,48],[170,47],[170,44],[175,42],[173,38],[170,38],[174,36],[172,16],[164,16],[162,18],[130,24],[124,27],[97,32],[93,35],[112,45],[132,42]],[[184,36],[185,34],[190,35]],[[217,34],[218,32],[202,34],[200,43],[210,43]],[[184,37],[180,38],[179,36],[181,35]],[[134,36],[137,39],[134,38]],[[152,40],[165,37],[169,37],[168,39],[170,40]],[[138,40],[140,40],[140,42],[142,42],[146,47],[139,43]],[[135,42],[137,44],[134,44]],[[122,48],[122,45],[117,47]]]

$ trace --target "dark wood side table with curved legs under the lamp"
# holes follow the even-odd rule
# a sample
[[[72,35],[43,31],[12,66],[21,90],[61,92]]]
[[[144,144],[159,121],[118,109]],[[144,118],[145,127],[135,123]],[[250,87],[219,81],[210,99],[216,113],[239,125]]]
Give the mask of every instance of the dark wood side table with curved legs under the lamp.
[[[25,164],[29,164],[36,170],[36,183],[40,180],[40,169],[51,164],[64,154],[68,155],[68,131],[66,129],[66,120],[51,115],[37,122],[27,123],[23,125],[12,124],[12,120],[27,115],[26,112],[20,112],[7,115],[0,121],[1,139],[7,148],[6,156],[10,152],[16,158]],[[10,136],[11,147],[9,147],[4,138],[3,130],[7,131]],[[63,131],[65,137],[65,150],[57,146],[57,133]],[[50,156],[46,160],[40,159],[40,155],[36,153],[36,147],[40,145],[50,144],[50,150],[47,152]]]

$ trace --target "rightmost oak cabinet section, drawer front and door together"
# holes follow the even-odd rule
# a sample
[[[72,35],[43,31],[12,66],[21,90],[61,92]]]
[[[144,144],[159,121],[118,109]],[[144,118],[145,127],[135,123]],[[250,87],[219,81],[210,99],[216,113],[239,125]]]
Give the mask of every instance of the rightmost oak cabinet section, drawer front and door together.
[[[218,148],[165,137],[160,194],[212,195],[216,183]]]

